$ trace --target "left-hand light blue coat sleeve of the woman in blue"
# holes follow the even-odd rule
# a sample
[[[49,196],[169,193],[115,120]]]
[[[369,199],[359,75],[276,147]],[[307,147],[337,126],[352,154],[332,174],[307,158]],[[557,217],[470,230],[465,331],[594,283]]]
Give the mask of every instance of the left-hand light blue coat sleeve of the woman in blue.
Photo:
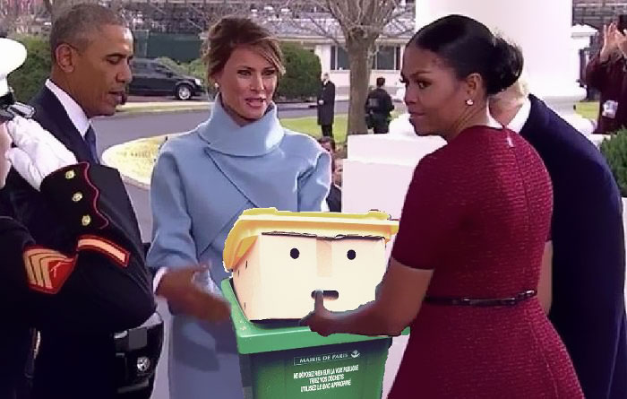
[[[150,182],[150,206],[153,224],[148,265],[155,269],[198,265],[185,186],[172,152],[159,155]]]

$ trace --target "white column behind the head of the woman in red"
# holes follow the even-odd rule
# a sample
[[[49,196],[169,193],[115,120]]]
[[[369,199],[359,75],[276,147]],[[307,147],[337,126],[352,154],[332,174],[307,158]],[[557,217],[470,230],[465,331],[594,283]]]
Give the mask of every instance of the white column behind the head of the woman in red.
[[[483,22],[520,45],[530,89],[581,133],[591,133],[593,125],[574,111],[586,91],[570,73],[577,62],[571,0],[422,0],[416,6],[417,28],[451,13]]]

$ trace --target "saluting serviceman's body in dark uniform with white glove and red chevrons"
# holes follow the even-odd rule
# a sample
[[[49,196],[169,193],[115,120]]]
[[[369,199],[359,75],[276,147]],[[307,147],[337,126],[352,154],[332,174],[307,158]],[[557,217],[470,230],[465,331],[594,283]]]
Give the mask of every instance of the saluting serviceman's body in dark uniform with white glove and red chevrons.
[[[115,384],[95,386],[93,379],[82,378],[82,369],[106,371],[104,364],[90,363],[94,352],[98,361],[114,361],[100,358],[99,343],[90,345],[89,337],[141,325],[156,308],[133,208],[116,169],[76,163],[73,153],[37,123],[18,118],[7,123],[16,144],[8,152],[13,168],[58,215],[73,249],[62,253],[42,247],[19,221],[0,217],[3,318],[7,326],[54,331],[84,344],[82,359],[87,361],[75,362],[73,353],[67,353],[69,359],[57,358],[59,372],[37,376],[33,399],[114,397]],[[4,126],[0,136],[5,136]],[[28,397],[19,386],[26,353],[9,347],[15,338],[19,336],[2,342],[2,353],[8,354],[0,362],[3,398]],[[19,360],[17,367],[10,359]]]

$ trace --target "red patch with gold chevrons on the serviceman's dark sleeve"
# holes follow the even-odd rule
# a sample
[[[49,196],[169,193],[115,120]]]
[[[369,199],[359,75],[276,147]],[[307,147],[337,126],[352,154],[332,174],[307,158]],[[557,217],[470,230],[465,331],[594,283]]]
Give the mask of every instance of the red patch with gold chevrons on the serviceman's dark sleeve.
[[[24,251],[24,267],[31,290],[56,294],[72,274],[75,258],[44,247]]]

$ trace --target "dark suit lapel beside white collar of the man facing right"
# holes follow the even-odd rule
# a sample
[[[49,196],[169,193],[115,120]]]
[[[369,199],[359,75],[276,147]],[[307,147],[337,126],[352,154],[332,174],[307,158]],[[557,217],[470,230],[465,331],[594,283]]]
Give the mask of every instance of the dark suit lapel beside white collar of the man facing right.
[[[68,150],[74,153],[77,160],[91,162],[91,152],[82,135],[76,130],[67,111],[56,98],[56,95],[44,86],[37,96],[30,101],[35,107],[35,119],[39,125],[53,134]]]

